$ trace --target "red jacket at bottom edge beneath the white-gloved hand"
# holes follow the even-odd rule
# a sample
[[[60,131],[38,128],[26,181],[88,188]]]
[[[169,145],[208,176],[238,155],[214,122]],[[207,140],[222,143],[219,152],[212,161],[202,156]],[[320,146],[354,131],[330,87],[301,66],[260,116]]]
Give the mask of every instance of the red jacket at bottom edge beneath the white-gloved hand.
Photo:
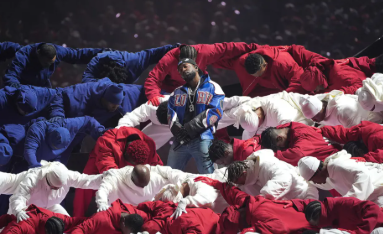
[[[216,233],[219,214],[208,208],[186,208],[177,219],[170,218],[177,208],[172,202],[144,202],[137,209],[144,211],[149,221],[142,227],[149,234],[210,234]]]

